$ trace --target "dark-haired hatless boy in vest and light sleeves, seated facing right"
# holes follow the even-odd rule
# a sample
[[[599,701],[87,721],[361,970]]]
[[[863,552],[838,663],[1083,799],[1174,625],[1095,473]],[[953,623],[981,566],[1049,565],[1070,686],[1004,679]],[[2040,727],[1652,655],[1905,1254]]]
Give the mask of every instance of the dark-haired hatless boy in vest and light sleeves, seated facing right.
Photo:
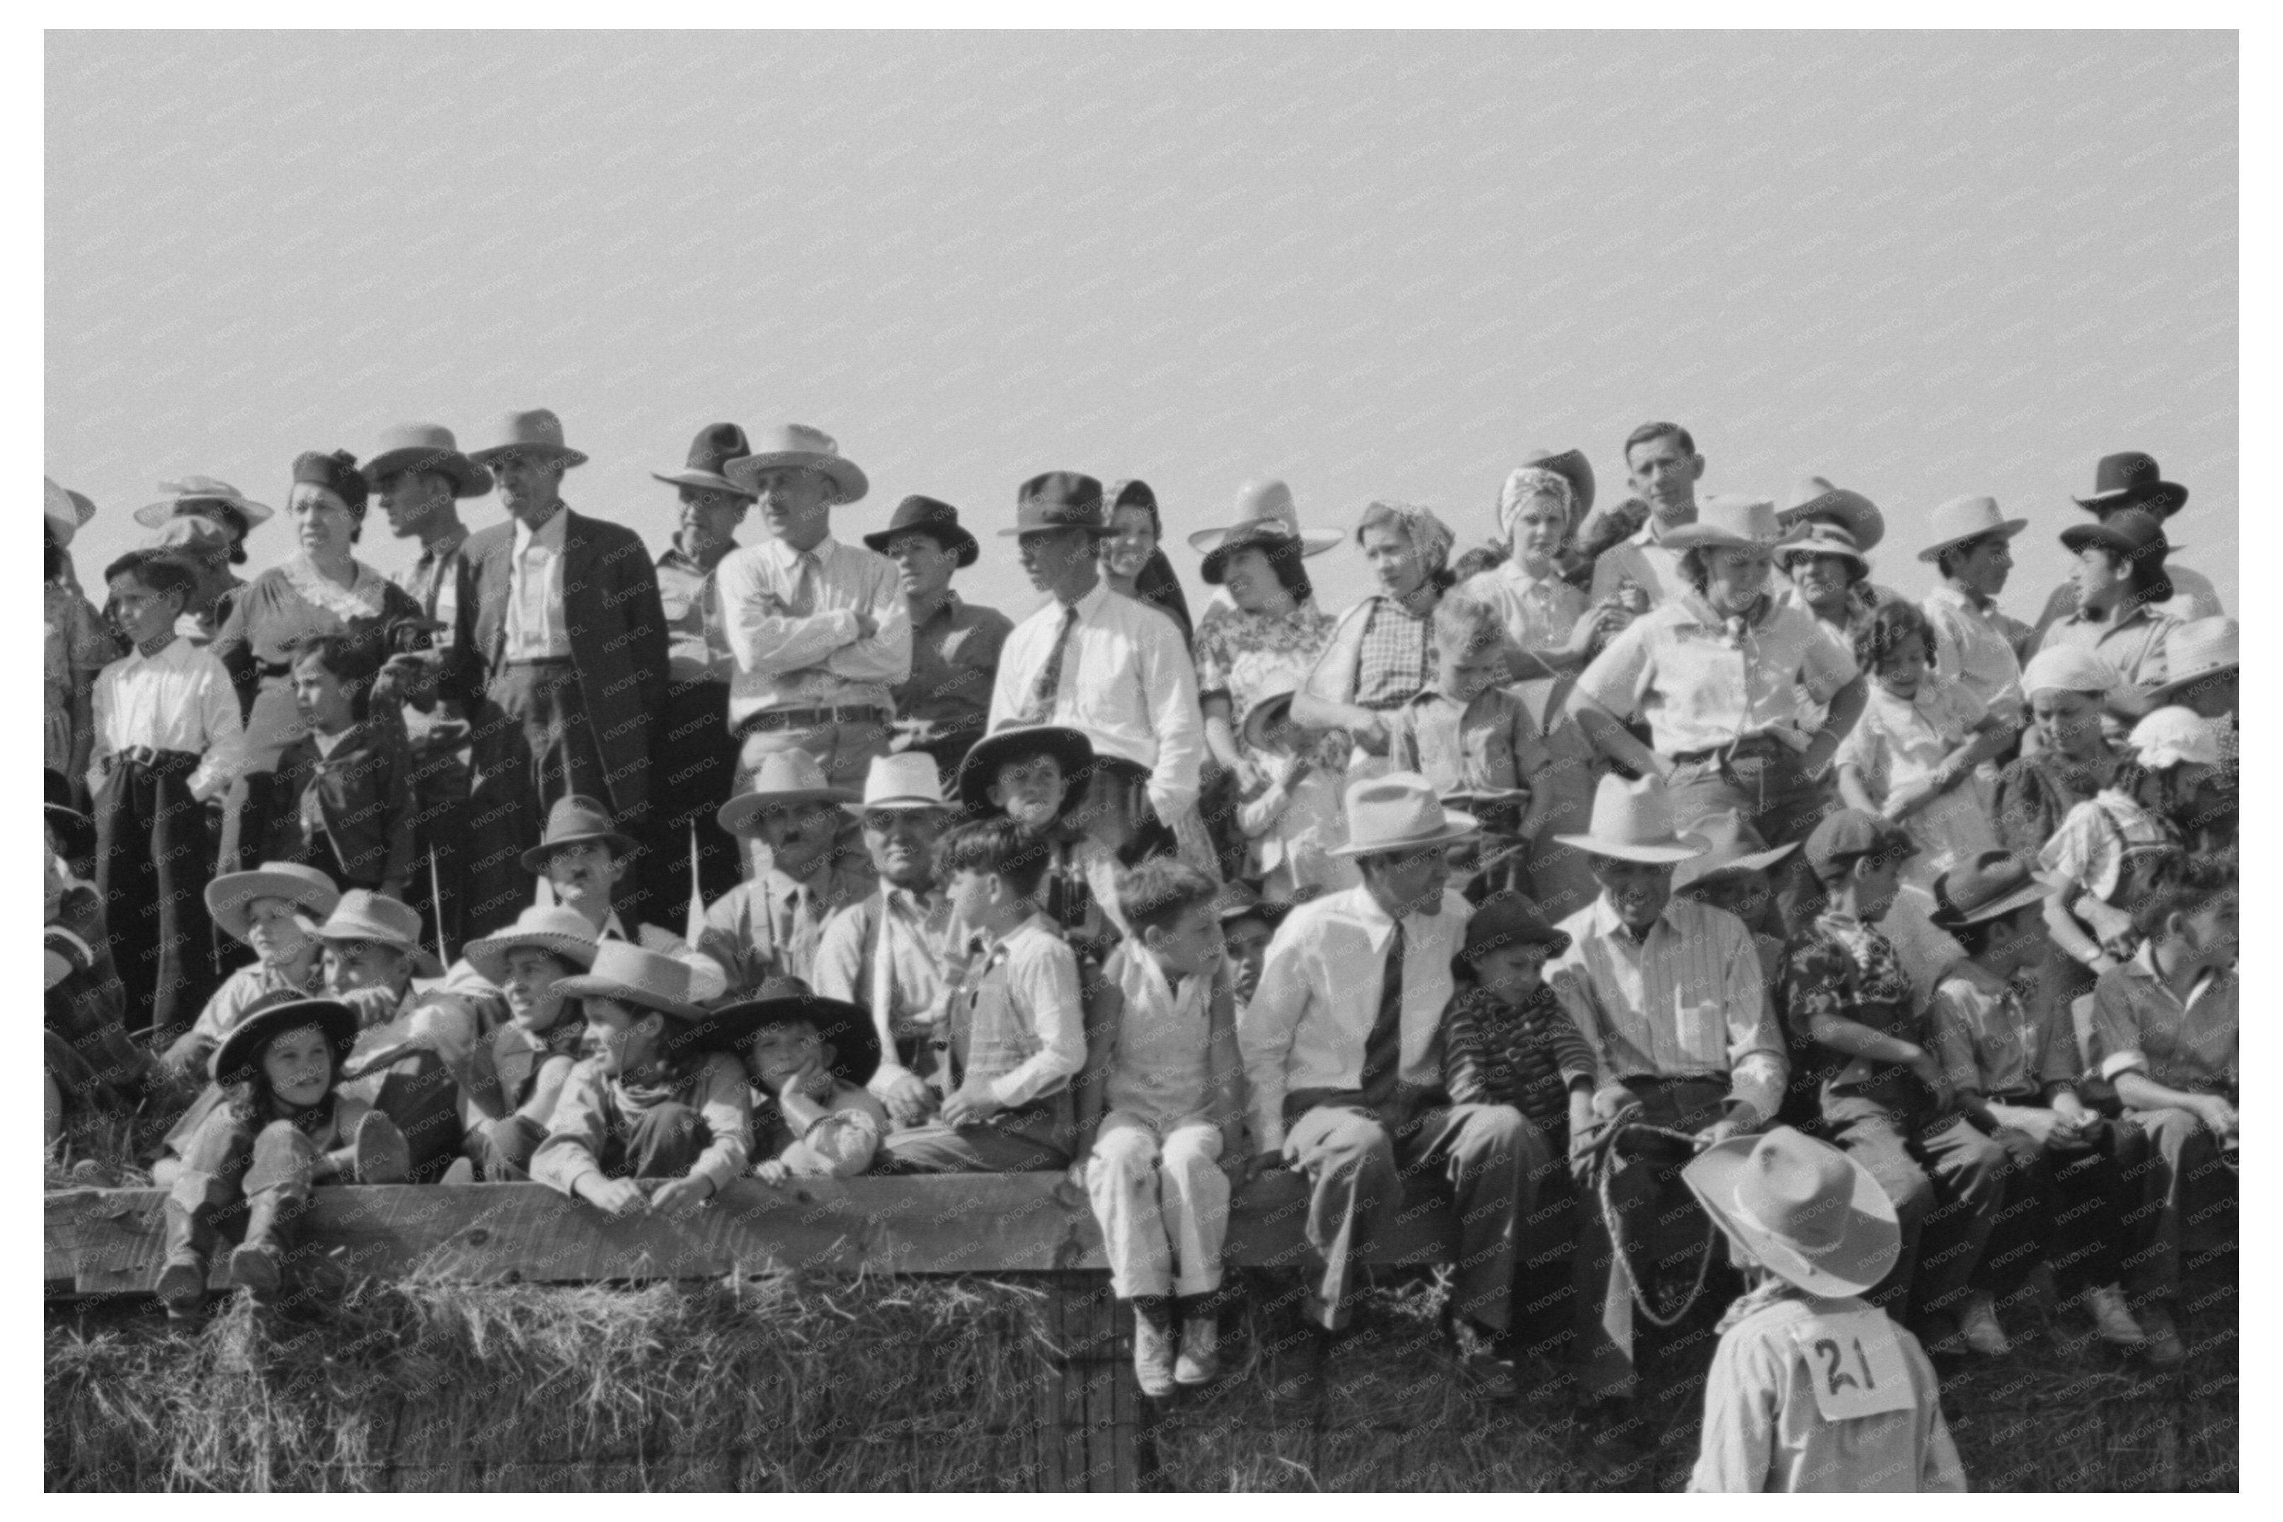
[[[1087,1063],[1078,956],[1039,904],[1052,849],[1014,819],[975,819],[936,844],[952,915],[982,933],[952,999],[945,1095],[931,1120],[888,1134],[895,1173],[1066,1168],[1071,1079]]]

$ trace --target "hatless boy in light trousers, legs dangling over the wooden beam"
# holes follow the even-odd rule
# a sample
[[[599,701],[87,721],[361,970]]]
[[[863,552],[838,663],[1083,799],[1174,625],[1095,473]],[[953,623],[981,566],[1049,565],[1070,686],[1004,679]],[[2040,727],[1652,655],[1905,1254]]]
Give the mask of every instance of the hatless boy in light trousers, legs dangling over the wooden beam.
[[[1215,892],[1210,876],[1167,858],[1119,879],[1135,929],[1103,968],[1078,1086],[1080,1136],[1091,1132],[1080,1180],[1110,1250],[1110,1292],[1132,1301],[1135,1381],[1155,1399],[1219,1374],[1219,1159],[1244,1157],[1244,1068]]]

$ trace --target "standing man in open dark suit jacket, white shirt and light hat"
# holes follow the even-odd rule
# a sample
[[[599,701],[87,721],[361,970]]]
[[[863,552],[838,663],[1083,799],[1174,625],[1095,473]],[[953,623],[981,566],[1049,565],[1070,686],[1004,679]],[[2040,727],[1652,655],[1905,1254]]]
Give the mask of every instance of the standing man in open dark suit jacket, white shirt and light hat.
[[[530,904],[518,858],[555,799],[603,799],[619,828],[648,844],[667,616],[642,536],[564,507],[564,470],[587,456],[564,447],[555,413],[509,413],[468,459],[498,477],[511,518],[468,539],[475,607],[461,609],[484,662],[470,714],[466,929],[491,931]]]

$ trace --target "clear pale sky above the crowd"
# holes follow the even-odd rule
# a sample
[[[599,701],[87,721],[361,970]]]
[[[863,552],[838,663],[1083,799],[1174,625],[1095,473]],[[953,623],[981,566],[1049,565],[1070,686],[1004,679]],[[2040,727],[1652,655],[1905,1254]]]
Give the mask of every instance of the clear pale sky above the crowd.
[[[1922,513],[1995,495],[2023,616],[2096,456],[2146,450],[2237,605],[2226,32],[50,32],[46,84],[82,575],[164,477],[281,504],[301,450],[552,406],[566,500],[653,550],[648,470],[721,418],[838,436],[845,539],[1139,475],[1201,607],[1180,536],[1247,477],[1468,545],[1530,447],[1607,500],[1671,418],[1705,491],[1867,493],[1911,593]],[[379,516],[363,550],[409,561]],[[1331,609],[1368,580],[1310,570]],[[1036,605],[1009,541],[959,586]]]

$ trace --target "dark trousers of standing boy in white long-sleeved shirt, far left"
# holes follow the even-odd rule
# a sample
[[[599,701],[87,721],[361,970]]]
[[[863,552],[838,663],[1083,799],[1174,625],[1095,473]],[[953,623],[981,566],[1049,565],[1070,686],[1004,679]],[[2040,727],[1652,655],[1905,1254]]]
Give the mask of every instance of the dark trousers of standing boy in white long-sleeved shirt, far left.
[[[199,758],[119,762],[96,792],[96,892],[126,986],[128,1029],[189,1025],[219,981],[205,883],[215,835],[189,796]]]

